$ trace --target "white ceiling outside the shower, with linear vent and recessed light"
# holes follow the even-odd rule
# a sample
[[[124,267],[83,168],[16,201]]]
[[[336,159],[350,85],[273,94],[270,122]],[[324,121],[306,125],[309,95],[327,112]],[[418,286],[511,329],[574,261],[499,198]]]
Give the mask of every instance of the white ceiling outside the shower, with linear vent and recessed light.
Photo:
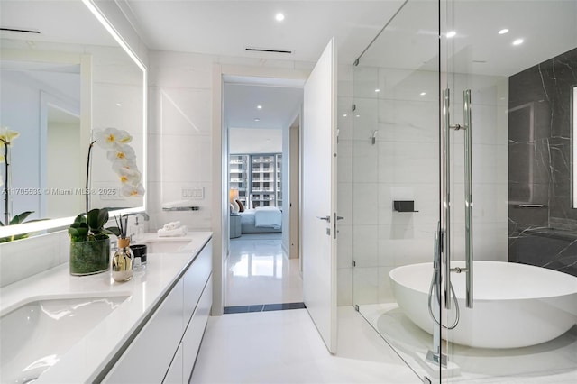
[[[125,0],[151,50],[315,62],[335,37],[353,63],[402,0]],[[275,20],[282,13],[285,19]],[[291,54],[245,48],[292,50]]]

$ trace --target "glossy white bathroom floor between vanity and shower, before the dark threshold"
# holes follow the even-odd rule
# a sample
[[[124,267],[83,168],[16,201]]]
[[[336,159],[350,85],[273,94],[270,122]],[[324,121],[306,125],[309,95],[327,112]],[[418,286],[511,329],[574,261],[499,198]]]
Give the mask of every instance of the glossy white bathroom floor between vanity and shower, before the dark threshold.
[[[210,317],[190,383],[422,383],[351,306],[338,343],[327,352],[307,309]]]

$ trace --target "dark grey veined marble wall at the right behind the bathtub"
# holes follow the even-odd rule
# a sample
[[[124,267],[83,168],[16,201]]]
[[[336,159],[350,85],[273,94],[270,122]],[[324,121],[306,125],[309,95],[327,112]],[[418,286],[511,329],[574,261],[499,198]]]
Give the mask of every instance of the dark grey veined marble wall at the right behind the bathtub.
[[[577,49],[509,78],[508,260],[577,276],[571,190],[575,85]]]

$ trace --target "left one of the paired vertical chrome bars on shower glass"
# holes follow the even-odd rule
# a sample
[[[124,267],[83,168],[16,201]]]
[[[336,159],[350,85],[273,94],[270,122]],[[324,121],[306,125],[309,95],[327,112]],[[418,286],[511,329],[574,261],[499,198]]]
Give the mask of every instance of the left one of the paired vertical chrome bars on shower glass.
[[[441,129],[441,247],[443,249],[443,303],[451,307],[451,123],[449,89],[443,90],[443,126]]]

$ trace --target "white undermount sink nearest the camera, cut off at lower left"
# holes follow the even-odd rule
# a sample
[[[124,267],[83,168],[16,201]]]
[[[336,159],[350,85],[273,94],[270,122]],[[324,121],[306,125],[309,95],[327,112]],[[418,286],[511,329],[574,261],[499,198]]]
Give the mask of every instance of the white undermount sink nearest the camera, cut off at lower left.
[[[30,383],[128,296],[55,297],[0,317],[0,382]]]

